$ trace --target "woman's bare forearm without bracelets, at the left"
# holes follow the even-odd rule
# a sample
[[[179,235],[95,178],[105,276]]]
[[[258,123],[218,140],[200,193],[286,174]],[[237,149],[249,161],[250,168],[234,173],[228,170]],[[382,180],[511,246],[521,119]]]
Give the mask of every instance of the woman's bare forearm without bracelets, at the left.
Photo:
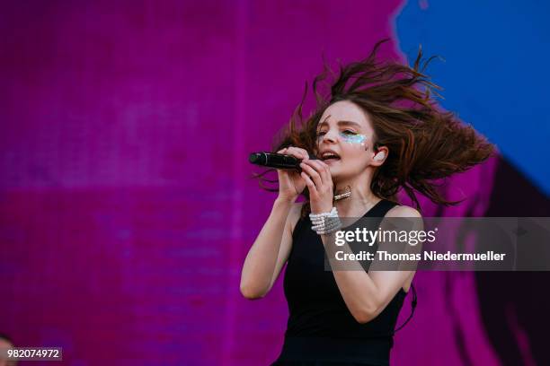
[[[241,293],[259,299],[270,292],[292,248],[292,231],[303,204],[278,198],[250,248],[241,273]]]

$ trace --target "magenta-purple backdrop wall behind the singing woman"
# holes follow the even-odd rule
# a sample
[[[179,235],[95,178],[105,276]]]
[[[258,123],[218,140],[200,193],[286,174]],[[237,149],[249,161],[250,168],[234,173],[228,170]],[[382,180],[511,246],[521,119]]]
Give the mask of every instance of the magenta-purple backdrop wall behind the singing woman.
[[[238,290],[274,199],[249,179],[247,153],[269,149],[322,52],[352,60],[390,37],[382,55],[404,59],[400,7],[4,4],[0,332],[62,346],[68,365],[273,361],[287,317],[281,283],[262,301]],[[424,213],[483,215],[494,169],[453,180],[448,194],[466,192],[464,205]],[[458,365],[465,352],[498,364],[472,274],[415,283],[419,308],[395,337],[395,364]]]

